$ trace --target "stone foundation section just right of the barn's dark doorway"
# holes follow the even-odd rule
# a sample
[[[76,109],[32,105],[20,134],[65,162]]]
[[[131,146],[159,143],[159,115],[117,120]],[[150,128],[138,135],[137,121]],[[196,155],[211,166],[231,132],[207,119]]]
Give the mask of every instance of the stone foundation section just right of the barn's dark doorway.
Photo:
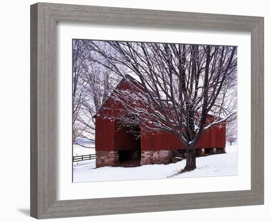
[[[171,162],[171,150],[141,150],[141,165],[168,164]]]

